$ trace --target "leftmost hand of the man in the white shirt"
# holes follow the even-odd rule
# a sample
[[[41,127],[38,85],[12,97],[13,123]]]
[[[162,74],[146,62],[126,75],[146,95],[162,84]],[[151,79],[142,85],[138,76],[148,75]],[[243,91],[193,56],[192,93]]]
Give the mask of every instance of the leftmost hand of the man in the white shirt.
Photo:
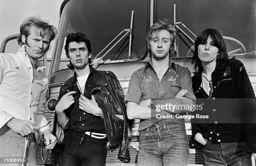
[[[7,126],[21,136],[29,135],[36,131],[34,125],[28,120],[13,118],[7,123]]]

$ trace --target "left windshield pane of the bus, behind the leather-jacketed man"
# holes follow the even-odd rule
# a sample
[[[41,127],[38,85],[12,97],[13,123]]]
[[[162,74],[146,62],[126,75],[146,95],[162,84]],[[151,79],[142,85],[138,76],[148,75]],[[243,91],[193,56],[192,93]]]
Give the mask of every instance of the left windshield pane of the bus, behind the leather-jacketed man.
[[[128,58],[130,36],[128,33],[102,59],[105,63],[136,61],[143,57],[146,50],[148,1],[118,0],[118,3],[114,0],[68,1],[61,13],[51,73],[67,68],[69,61],[66,58],[64,45],[69,33],[81,32],[90,38],[93,59],[123,29],[130,28],[132,10],[134,10],[134,19],[131,58]],[[105,51],[98,57],[104,53]]]

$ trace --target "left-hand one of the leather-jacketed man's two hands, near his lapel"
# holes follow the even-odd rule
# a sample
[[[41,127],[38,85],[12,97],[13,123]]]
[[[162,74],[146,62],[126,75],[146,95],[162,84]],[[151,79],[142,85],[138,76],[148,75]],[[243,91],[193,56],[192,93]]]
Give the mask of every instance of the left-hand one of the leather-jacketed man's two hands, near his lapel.
[[[64,110],[66,110],[70,105],[74,103],[74,97],[72,94],[75,94],[77,92],[71,91],[66,94],[64,94],[61,99],[59,100],[58,104],[55,107],[56,113],[62,113]]]

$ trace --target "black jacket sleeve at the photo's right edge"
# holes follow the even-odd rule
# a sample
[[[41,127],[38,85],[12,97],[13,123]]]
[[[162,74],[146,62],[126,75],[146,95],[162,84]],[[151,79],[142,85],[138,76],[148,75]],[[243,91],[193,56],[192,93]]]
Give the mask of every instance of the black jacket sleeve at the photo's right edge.
[[[233,77],[238,98],[244,100],[244,111],[249,115],[254,115],[251,115],[251,117],[255,117],[256,100],[251,82],[243,63],[239,60],[236,61]],[[256,153],[256,123],[253,122],[246,124],[246,151]]]

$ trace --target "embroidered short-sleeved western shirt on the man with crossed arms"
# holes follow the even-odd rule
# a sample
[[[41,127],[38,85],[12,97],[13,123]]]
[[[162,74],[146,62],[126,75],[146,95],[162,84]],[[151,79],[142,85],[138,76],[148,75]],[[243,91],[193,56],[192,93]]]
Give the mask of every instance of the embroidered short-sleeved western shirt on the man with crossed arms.
[[[172,59],[169,59],[169,67],[160,81],[150,59],[146,62],[145,67],[132,74],[125,102],[135,102],[139,105],[141,101],[152,98],[173,99],[181,89],[187,89],[186,97],[195,101],[189,69],[174,64]],[[182,100],[179,100],[177,104],[183,104]],[[176,118],[157,120],[157,123],[159,122],[181,123],[184,125],[184,119]],[[154,123],[156,123],[156,119],[141,120],[139,131],[153,127]]]

